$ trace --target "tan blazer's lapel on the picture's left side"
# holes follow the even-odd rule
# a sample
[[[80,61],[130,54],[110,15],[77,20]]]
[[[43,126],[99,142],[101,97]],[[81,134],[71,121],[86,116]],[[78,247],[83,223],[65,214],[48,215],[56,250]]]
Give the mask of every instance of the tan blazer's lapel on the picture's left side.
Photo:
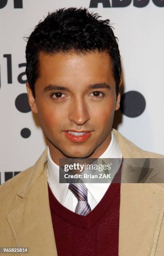
[[[18,191],[18,206],[8,214],[7,219],[18,247],[28,247],[29,255],[57,256],[45,156],[46,150],[29,173],[22,189]]]

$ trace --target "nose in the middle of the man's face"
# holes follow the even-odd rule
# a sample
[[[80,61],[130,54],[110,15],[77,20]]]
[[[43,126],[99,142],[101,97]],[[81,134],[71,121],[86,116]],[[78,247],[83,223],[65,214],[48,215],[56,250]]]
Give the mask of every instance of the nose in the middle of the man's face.
[[[69,111],[69,120],[83,125],[90,119],[88,107],[83,99],[74,99]]]

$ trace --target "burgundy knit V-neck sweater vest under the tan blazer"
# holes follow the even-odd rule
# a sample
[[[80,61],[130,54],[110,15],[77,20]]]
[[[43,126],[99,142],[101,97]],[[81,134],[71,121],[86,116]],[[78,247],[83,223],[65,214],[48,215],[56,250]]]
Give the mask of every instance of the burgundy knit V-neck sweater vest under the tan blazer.
[[[101,201],[86,216],[61,205],[48,185],[58,256],[119,255],[121,167]]]

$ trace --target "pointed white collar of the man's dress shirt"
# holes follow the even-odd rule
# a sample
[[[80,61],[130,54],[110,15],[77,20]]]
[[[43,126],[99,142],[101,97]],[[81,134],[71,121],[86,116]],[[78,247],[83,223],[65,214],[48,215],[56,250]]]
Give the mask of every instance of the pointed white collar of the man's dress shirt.
[[[114,136],[114,133],[111,132],[111,142],[103,154],[99,156],[99,158],[122,158],[121,149],[116,137]],[[68,192],[69,184],[59,183],[59,166],[52,160],[49,148],[47,153],[47,161],[48,184],[53,192],[53,195],[55,195],[56,199],[63,205]],[[85,185],[97,203],[100,202],[109,186],[108,183],[85,183]]]

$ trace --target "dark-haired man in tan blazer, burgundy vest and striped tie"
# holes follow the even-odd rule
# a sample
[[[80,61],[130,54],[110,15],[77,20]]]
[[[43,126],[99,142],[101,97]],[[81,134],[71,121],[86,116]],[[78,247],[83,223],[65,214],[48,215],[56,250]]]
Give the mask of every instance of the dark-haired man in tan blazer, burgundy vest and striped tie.
[[[109,20],[85,8],[57,10],[31,33],[26,59],[28,100],[48,147],[0,186],[0,246],[28,247],[29,255],[164,255],[156,164],[144,160],[135,171],[123,160],[121,181],[134,174],[140,184],[59,183],[59,159],[163,157],[112,130],[121,64]]]

